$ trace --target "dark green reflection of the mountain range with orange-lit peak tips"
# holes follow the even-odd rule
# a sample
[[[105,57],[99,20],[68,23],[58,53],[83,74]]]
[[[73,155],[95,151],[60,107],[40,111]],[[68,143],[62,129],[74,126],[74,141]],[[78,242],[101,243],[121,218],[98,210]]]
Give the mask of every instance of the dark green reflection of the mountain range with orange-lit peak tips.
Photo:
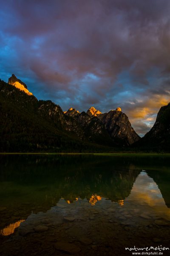
[[[130,200],[134,195],[130,194],[132,187],[134,192],[135,186],[140,186],[138,183],[140,179],[136,177],[141,172],[142,166],[146,167],[146,170],[148,166],[148,159],[144,158],[94,155],[0,156],[0,161],[1,205],[6,207],[8,212],[6,220],[9,220],[15,212],[14,221],[27,218],[31,211],[36,213],[50,209],[51,206],[56,205],[59,198],[64,198],[67,203],[79,197],[87,198],[92,205],[95,205],[99,198],[108,198],[123,206],[124,201],[127,200],[125,198]],[[150,159],[147,172],[159,185],[167,204],[170,198],[168,196],[170,186],[167,188],[167,185],[164,187],[163,184],[168,184],[169,174],[160,172],[161,161],[159,163],[157,159],[156,163],[157,171],[155,169],[151,171],[150,166],[155,165],[155,159],[153,161]],[[138,178],[140,177],[141,175]],[[137,185],[133,186],[135,180]],[[5,213],[0,212],[0,214],[3,214],[4,218]],[[6,223],[6,226],[9,223],[11,221]]]

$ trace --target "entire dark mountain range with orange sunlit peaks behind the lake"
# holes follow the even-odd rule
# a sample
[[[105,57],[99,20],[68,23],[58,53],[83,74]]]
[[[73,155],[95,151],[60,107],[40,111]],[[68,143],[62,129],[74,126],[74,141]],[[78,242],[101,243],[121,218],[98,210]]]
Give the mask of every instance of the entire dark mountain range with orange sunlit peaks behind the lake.
[[[1,152],[95,152],[123,148],[168,150],[170,104],[160,109],[153,128],[140,138],[121,108],[101,113],[94,107],[63,112],[38,100],[13,74],[0,80]],[[159,143],[159,146],[157,145]]]

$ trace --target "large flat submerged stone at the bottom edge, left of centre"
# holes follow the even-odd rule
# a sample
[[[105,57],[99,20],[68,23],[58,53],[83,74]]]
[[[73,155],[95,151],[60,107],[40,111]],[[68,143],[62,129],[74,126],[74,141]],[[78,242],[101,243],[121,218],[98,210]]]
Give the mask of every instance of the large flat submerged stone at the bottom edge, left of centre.
[[[75,254],[75,253],[79,253],[80,252],[80,248],[74,244],[70,244],[67,242],[57,242],[54,247],[57,250],[66,252],[66,253],[70,253],[70,254]]]

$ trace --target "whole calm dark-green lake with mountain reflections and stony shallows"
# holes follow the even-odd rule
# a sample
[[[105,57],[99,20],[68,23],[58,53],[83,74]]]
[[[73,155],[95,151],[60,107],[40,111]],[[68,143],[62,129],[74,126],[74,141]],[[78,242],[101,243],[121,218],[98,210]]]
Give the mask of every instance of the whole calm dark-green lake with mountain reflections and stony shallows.
[[[170,255],[169,156],[0,155],[0,163],[0,255]]]

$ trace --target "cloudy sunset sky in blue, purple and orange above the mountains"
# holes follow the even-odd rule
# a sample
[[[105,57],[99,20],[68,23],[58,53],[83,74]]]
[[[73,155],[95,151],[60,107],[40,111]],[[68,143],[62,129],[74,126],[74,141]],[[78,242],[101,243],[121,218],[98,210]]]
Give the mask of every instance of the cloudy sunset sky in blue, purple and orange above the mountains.
[[[13,73],[63,111],[121,107],[143,136],[170,102],[170,1],[0,1],[0,79]]]

